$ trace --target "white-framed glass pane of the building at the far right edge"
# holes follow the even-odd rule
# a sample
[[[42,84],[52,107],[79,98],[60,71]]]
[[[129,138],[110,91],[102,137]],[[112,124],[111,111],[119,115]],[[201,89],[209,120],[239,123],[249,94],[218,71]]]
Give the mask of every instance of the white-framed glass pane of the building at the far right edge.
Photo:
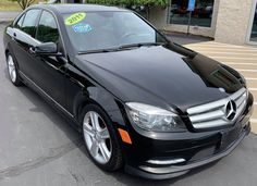
[[[250,20],[248,41],[252,44],[257,44],[257,0],[255,0],[252,15],[253,18]]]

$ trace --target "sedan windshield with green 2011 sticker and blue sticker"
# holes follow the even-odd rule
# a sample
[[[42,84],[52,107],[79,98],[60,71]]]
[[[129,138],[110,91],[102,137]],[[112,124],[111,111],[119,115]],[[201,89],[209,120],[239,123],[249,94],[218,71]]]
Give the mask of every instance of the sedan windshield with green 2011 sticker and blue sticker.
[[[164,38],[132,12],[77,12],[63,15],[78,52],[126,45],[164,42]]]

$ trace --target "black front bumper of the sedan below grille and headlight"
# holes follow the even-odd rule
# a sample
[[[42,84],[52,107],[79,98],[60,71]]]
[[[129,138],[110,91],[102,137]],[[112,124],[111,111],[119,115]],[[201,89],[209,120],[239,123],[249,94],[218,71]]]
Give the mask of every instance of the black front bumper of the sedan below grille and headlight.
[[[134,142],[131,146],[124,146],[125,171],[145,178],[166,179],[217,161],[231,153],[249,134],[252,112],[253,96],[250,95],[245,111],[233,127],[201,133],[162,134],[160,136],[157,134],[148,134],[147,136],[144,132],[133,132],[131,128],[130,134]],[[184,161],[176,162],[178,159]],[[149,160],[157,163],[149,162]]]

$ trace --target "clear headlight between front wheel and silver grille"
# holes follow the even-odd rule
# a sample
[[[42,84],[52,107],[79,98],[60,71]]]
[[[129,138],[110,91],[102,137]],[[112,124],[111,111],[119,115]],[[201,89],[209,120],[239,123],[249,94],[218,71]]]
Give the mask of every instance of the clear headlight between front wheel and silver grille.
[[[130,120],[140,128],[155,132],[185,131],[181,117],[173,112],[138,102],[127,102],[126,106]]]

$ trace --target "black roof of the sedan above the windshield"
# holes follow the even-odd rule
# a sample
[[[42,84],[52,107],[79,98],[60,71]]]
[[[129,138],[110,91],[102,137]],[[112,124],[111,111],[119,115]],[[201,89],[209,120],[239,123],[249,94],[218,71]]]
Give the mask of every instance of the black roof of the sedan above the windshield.
[[[108,7],[108,5],[98,5],[98,4],[37,4],[34,7],[47,8],[56,10],[59,13],[72,13],[72,12],[107,12],[107,11],[127,11],[122,8]]]

